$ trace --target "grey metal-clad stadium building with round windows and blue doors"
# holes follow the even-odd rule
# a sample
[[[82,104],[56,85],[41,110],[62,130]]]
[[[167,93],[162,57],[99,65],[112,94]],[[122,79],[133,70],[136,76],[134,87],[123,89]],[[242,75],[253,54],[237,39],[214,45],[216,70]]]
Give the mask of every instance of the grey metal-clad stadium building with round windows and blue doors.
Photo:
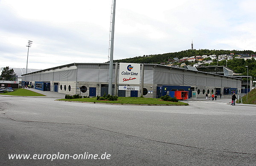
[[[197,96],[205,96],[206,93],[231,94],[241,91],[241,79],[238,78],[157,64],[144,64],[144,76],[141,65],[140,85],[116,83],[116,80],[119,80],[119,64],[117,66],[116,64],[113,64],[112,93],[114,94],[116,90],[117,95],[122,97],[140,97],[142,77],[144,97],[158,98],[175,90],[188,91],[189,97],[192,91],[196,92]],[[44,91],[91,97],[102,96],[104,93],[108,94],[108,67],[108,63],[71,63],[23,74],[22,83]],[[115,89],[119,86],[140,86],[140,90]]]

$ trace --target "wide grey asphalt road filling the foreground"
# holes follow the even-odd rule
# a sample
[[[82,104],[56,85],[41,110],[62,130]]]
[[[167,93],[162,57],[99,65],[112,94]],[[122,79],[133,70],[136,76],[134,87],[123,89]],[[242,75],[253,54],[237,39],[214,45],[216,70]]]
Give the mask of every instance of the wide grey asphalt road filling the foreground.
[[[131,106],[0,96],[0,165],[256,165],[256,107],[230,100]],[[9,154],[110,159],[9,159]]]

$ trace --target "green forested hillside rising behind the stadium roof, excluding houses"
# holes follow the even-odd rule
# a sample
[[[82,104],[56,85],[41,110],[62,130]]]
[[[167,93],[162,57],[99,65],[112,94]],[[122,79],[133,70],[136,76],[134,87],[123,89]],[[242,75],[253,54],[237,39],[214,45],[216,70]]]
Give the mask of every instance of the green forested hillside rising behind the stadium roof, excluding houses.
[[[178,57],[179,59],[182,57],[192,57],[192,56],[202,56],[202,55],[222,55],[227,54],[256,54],[256,52],[250,50],[238,51],[238,50],[208,50],[208,49],[200,49],[200,50],[186,50],[181,52],[173,52],[173,53],[166,53],[166,54],[154,54],[154,55],[143,55],[139,57],[132,57],[122,60],[114,60],[114,62],[123,62],[123,63],[153,63],[153,64],[160,64],[163,62],[167,62],[170,59]],[[184,62],[183,62],[184,63]],[[193,63],[185,62],[187,65],[192,65]],[[214,60],[213,63],[207,64],[206,66],[217,65],[217,60]],[[218,62],[218,66],[226,66],[226,61]],[[242,75],[247,75],[247,67],[249,68],[249,75],[253,78],[256,77],[256,60],[244,60],[244,59],[237,59],[233,58],[233,60],[227,61],[227,67],[234,70],[236,73],[241,73]]]

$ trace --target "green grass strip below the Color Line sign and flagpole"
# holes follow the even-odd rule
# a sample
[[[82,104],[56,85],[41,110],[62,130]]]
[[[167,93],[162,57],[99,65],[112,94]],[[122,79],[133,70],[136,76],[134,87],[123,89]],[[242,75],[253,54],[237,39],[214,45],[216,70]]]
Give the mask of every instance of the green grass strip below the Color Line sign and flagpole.
[[[145,97],[118,97],[117,101],[108,101],[108,100],[96,100],[96,97],[92,98],[81,98],[81,99],[58,99],[66,101],[81,101],[81,102],[95,102],[95,103],[120,103],[120,104],[147,104],[147,105],[157,105],[157,104],[166,104],[166,105],[189,105],[188,103],[183,102],[171,102],[163,101],[155,98],[145,98]]]

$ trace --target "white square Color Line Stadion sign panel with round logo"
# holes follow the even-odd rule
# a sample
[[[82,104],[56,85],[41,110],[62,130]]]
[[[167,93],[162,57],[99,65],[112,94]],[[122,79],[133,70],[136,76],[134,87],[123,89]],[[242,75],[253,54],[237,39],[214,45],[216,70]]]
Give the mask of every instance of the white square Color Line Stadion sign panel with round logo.
[[[119,83],[140,84],[139,63],[119,63]]]

